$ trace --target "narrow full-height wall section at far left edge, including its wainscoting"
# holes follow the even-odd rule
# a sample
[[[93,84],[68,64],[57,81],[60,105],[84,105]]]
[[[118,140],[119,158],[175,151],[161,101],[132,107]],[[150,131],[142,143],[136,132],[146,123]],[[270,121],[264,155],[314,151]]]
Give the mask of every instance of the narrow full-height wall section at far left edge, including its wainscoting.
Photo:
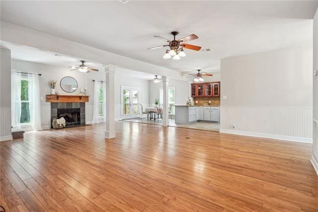
[[[11,51],[0,49],[0,141],[11,135]]]

